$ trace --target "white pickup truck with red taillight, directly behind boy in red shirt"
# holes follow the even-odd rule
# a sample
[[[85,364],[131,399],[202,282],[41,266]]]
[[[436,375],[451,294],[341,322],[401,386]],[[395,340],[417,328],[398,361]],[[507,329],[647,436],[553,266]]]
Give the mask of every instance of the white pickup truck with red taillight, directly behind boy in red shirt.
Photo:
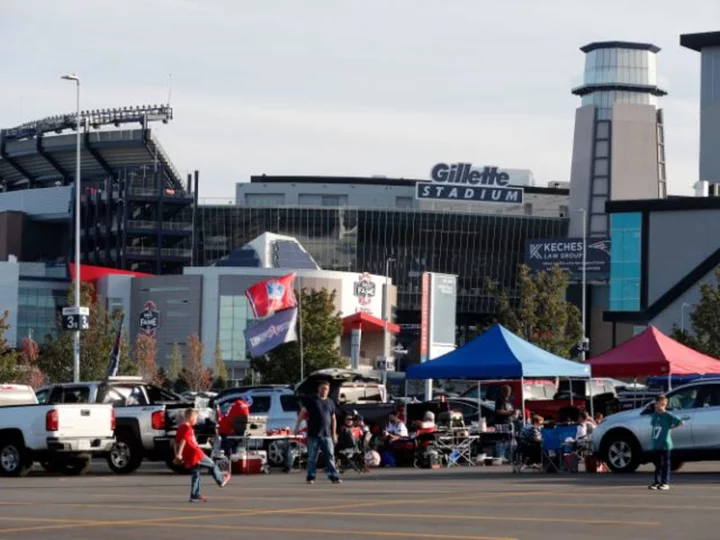
[[[38,399],[49,404],[105,403],[115,410],[116,443],[107,453],[110,469],[129,474],[140,467],[143,459],[165,461],[173,465],[173,440],[183,413],[192,402],[177,394],[146,384],[141,377],[110,377],[105,381],[56,384],[38,391]],[[209,447],[215,436],[215,415],[210,408],[200,409],[195,426],[200,445]]]

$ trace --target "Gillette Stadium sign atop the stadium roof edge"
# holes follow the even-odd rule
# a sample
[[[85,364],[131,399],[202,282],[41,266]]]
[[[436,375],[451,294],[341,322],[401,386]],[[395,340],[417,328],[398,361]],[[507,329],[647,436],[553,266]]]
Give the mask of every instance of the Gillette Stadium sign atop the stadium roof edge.
[[[522,204],[524,190],[510,186],[510,175],[497,167],[438,163],[429,182],[415,184],[415,198],[455,202]]]

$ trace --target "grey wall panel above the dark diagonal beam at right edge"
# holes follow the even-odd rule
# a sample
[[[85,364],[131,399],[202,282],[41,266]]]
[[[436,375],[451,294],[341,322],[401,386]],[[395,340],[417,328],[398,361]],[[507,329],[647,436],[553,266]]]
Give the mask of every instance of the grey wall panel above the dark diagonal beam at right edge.
[[[684,278],[720,243],[715,231],[720,210],[653,212],[650,214],[648,304]]]

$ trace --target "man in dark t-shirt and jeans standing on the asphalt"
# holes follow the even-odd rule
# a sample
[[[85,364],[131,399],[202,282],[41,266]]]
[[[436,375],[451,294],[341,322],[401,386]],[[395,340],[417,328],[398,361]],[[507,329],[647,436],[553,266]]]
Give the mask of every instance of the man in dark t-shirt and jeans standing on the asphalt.
[[[305,400],[295,423],[295,434],[300,431],[300,422],[307,421],[308,469],[307,483],[315,483],[317,472],[318,450],[325,457],[325,472],[333,484],[341,483],[340,475],[335,467],[335,443],[337,443],[337,417],[335,402],[328,397],[330,383],[321,382],[318,394]]]

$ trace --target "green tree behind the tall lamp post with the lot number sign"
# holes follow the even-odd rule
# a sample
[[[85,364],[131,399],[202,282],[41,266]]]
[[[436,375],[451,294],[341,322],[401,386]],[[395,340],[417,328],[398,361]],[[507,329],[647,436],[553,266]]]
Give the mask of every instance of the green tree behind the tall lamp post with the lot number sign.
[[[68,303],[73,301],[71,287],[68,291]],[[88,283],[82,284],[81,303],[90,308],[90,329],[80,333],[80,379],[84,381],[103,379],[110,364],[121,314],[119,312],[109,314],[102,302],[97,301],[94,288]],[[120,355],[119,372],[129,374],[128,372],[134,371],[124,335],[121,339]],[[40,351],[39,367],[52,382],[71,381],[72,358],[73,332],[64,331],[62,321],[58,317],[57,336],[46,338]]]

